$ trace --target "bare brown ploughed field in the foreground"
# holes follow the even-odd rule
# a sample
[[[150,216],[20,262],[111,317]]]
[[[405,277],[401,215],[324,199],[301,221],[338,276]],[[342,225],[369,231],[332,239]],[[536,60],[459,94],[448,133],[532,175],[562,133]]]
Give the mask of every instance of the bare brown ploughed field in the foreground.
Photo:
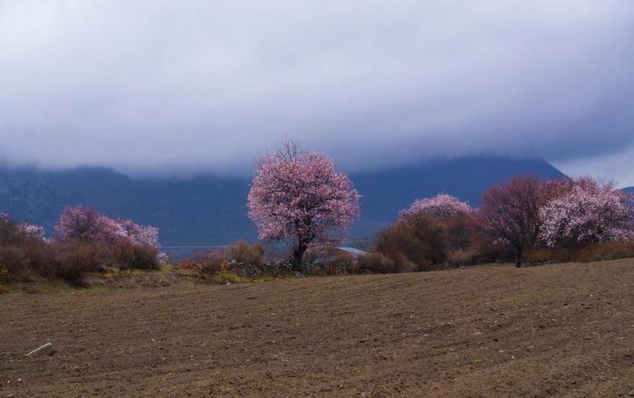
[[[0,397],[634,394],[632,260],[0,297],[0,308]],[[57,354],[24,357],[48,341]]]

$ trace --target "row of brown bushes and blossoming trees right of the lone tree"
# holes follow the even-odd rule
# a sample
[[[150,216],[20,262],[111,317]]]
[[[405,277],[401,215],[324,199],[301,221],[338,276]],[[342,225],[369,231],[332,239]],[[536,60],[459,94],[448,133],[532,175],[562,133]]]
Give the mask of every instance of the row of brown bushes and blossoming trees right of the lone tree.
[[[492,261],[543,263],[634,256],[632,198],[591,177],[514,176],[480,208],[448,194],[420,199],[380,232],[374,251],[395,270]]]

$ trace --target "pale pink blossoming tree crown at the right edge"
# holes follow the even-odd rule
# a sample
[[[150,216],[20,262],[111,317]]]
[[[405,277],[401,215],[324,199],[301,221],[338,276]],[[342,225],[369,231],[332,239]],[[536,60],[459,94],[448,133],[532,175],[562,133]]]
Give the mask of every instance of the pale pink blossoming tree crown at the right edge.
[[[629,195],[588,178],[544,205],[540,219],[539,237],[548,246],[622,241],[634,236]]]

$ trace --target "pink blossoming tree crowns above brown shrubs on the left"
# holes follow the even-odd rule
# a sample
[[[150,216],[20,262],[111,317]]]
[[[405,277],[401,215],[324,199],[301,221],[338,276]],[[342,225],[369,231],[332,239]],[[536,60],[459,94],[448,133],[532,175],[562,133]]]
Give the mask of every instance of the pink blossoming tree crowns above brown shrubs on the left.
[[[128,242],[159,247],[159,229],[103,215],[82,205],[66,207],[55,225],[58,241]]]

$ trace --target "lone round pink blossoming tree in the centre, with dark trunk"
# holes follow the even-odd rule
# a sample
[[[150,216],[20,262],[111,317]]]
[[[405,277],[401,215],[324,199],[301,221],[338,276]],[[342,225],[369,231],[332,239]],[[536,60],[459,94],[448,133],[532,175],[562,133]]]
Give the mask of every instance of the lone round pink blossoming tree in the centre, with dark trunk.
[[[313,242],[340,240],[359,214],[360,194],[328,156],[287,142],[259,160],[247,207],[263,240],[293,242],[293,266]]]

